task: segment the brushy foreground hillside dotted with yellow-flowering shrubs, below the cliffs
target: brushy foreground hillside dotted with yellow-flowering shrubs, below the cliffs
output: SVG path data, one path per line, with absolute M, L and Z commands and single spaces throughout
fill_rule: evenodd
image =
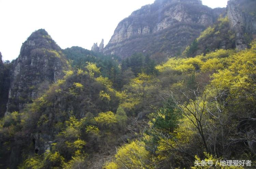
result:
M 189 168 L 197 158 L 255 162 L 255 43 L 173 57 L 154 71 L 153 61 L 133 57 L 118 66 L 126 78 L 117 88 L 111 73 L 87 62 L 2 118 L 2 167 L 86 168 L 96 153 L 108 157 L 99 164 L 106 169 Z

